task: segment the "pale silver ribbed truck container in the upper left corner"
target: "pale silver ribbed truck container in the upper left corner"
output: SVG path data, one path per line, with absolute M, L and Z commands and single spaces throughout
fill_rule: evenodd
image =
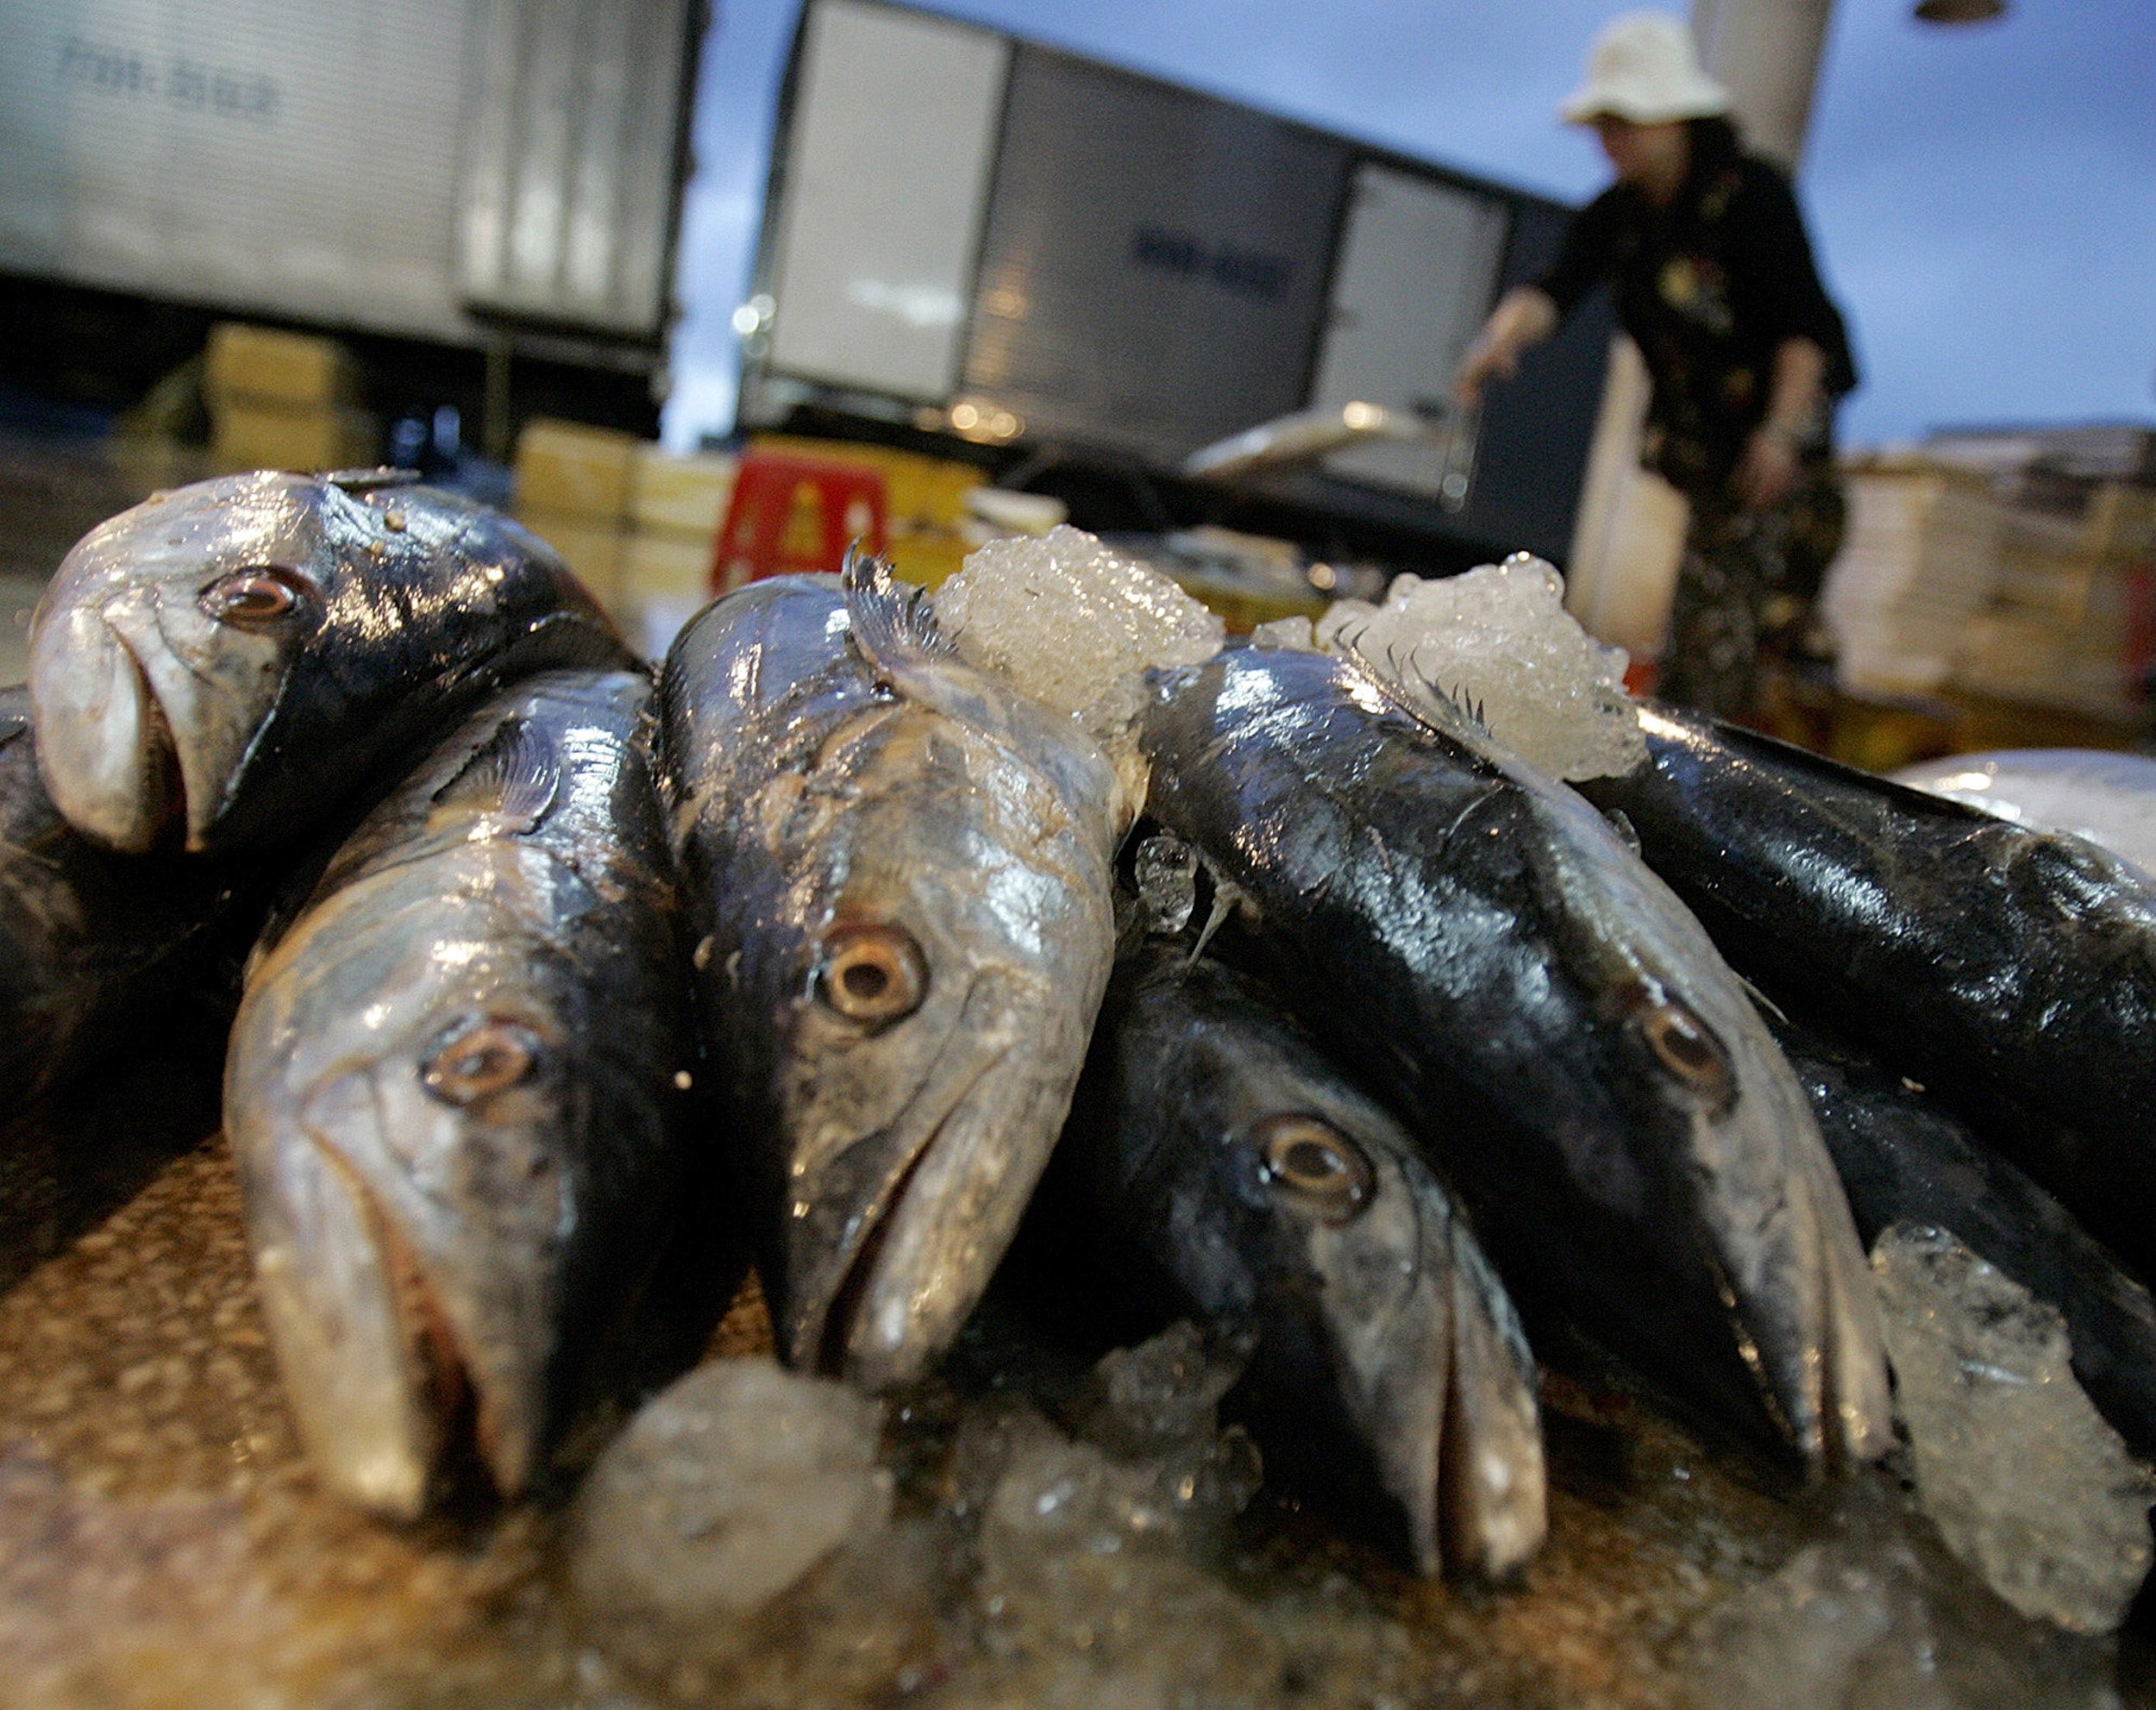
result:
M 0 267 L 651 367 L 701 24 L 699 0 L 11 4 Z

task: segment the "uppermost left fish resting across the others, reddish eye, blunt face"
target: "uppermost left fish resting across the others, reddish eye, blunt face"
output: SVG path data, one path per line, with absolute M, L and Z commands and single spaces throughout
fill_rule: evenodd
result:
M 513 677 L 630 662 L 509 518 L 395 470 L 261 470 L 155 494 L 69 550 L 30 623 L 30 703 L 75 830 L 224 852 L 304 841 Z

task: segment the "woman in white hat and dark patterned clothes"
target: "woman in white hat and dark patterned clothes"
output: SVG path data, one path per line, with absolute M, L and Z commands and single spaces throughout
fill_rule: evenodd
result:
M 1574 216 L 1557 261 L 1505 293 L 1455 392 L 1479 403 L 1611 287 L 1651 380 L 1641 461 L 1692 509 L 1656 690 L 1742 718 L 1768 656 L 1818 647 L 1811 602 L 1843 520 L 1833 403 L 1856 386 L 1848 330 L 1789 181 L 1740 147 L 1684 22 L 1608 24 L 1559 114 L 1593 127 L 1617 181 Z

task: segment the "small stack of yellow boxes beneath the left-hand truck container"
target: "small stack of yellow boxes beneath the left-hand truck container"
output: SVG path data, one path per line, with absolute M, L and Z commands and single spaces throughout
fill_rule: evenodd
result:
M 382 461 L 382 423 L 334 339 L 220 321 L 203 356 L 216 470 L 334 470 Z

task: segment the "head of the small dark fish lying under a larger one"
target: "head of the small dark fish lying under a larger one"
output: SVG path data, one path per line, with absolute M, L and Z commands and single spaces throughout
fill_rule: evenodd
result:
M 1546 1531 L 1518 1320 L 1399 1126 L 1309 1091 L 1214 1147 L 1240 1238 L 1266 1255 L 1253 1311 L 1261 1384 L 1281 1391 L 1268 1406 L 1315 1406 L 1328 1432 L 1298 1432 L 1302 1471 L 1376 1505 L 1421 1572 L 1511 1572 Z

